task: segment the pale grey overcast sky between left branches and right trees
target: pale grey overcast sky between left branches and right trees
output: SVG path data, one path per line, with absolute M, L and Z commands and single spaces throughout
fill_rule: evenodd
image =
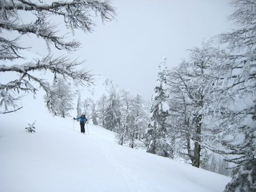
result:
M 84 67 L 112 79 L 119 87 L 151 99 L 159 61 L 178 65 L 190 49 L 233 28 L 228 0 L 115 0 L 116 19 L 94 28 L 91 34 L 75 31 L 82 49 L 71 55 L 85 59 Z M 63 19 L 60 20 L 63 22 Z M 27 37 L 29 38 L 29 37 Z M 33 40 L 34 41 L 34 40 Z M 47 49 L 39 46 L 46 54 Z M 45 53 L 43 53 L 43 50 Z M 54 50 L 54 49 L 53 49 Z M 55 50 L 56 51 L 56 50 Z

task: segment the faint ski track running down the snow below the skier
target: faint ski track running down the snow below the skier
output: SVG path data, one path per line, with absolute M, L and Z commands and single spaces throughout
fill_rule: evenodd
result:
M 98 140 L 98 139 L 97 139 Z M 114 167 L 114 169 L 122 175 L 122 178 L 124 179 L 124 182 L 126 183 L 127 189 L 129 189 L 130 192 L 132 191 L 139 191 L 139 192 L 147 192 L 150 191 L 147 187 L 146 183 L 143 182 L 141 179 L 138 178 L 137 175 L 126 169 L 124 166 L 122 166 L 120 163 L 118 163 L 118 160 L 114 157 L 114 155 L 111 153 L 110 149 L 103 145 L 102 141 L 98 140 L 101 149 L 103 151 L 103 154 L 107 158 L 108 162 Z

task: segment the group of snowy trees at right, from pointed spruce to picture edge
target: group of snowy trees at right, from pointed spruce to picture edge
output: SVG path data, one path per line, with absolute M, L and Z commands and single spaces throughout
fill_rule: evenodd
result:
M 232 1 L 238 29 L 190 49 L 188 59 L 158 70 L 148 126 L 149 153 L 204 167 L 225 156 L 234 177 L 225 191 L 256 189 L 256 1 Z M 212 160 L 212 158 L 211 158 Z

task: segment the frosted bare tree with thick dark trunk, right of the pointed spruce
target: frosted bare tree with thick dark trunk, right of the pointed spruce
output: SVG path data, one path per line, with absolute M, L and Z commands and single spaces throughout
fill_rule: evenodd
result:
M 182 61 L 169 74 L 169 135 L 172 148 L 174 152 L 179 151 L 178 155 L 182 158 L 189 158 L 196 167 L 206 166 L 209 159 L 207 150 L 214 143 L 216 122 L 221 119 L 220 114 L 213 115 L 217 109 L 209 106 L 215 99 L 211 87 L 221 70 L 214 67 L 221 63 L 219 55 L 222 51 L 204 42 L 201 48 L 191 49 L 188 60 Z

